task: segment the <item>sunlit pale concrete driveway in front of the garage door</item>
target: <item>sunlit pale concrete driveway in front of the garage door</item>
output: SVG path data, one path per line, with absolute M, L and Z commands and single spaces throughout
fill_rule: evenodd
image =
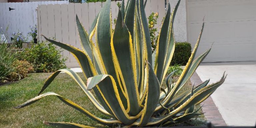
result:
M 226 81 L 212 94 L 227 125 L 255 126 L 256 123 L 256 61 L 202 63 L 196 70 L 202 81 Z

